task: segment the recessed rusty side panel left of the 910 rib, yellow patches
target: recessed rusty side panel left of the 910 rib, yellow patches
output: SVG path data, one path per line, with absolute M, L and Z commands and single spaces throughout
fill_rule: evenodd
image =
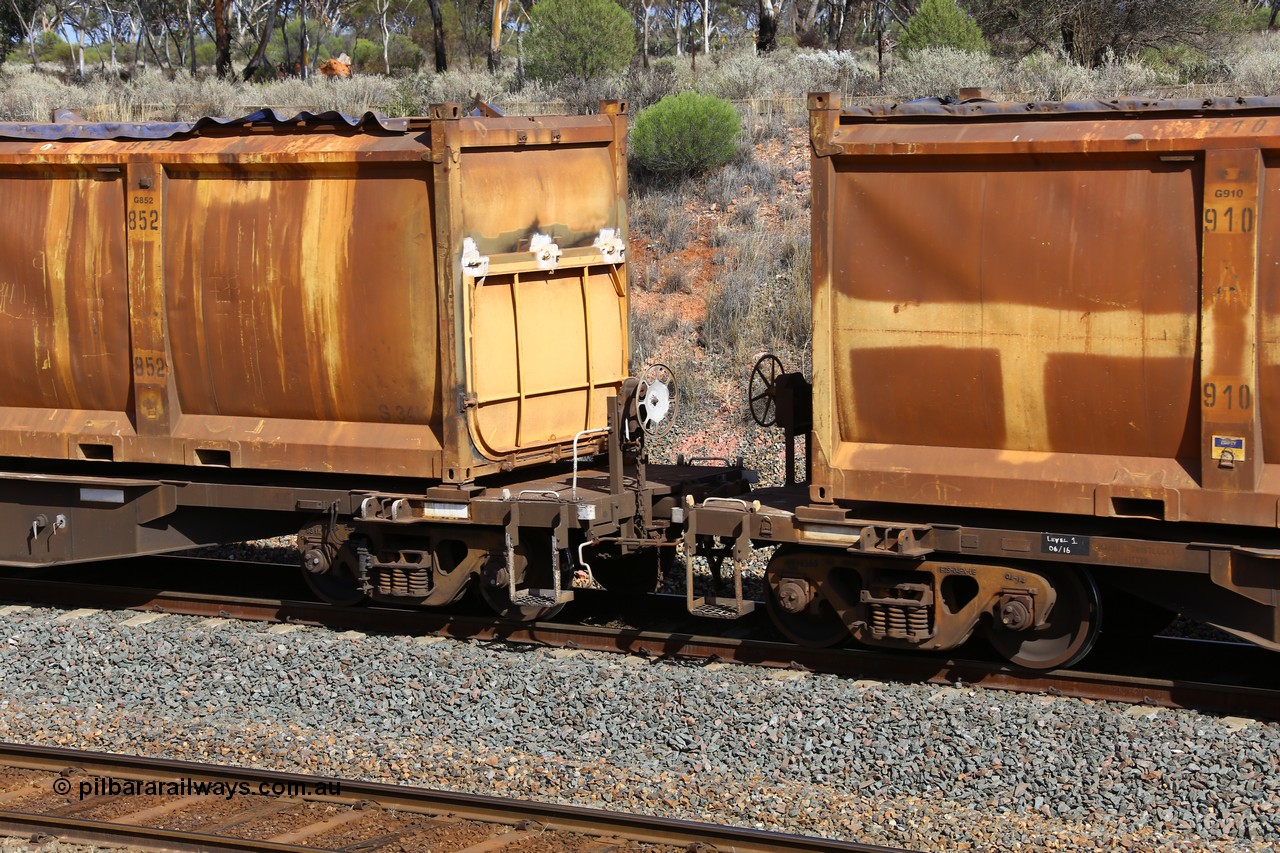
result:
M 841 441 L 1194 459 L 1198 182 L 1152 161 L 837 172 Z

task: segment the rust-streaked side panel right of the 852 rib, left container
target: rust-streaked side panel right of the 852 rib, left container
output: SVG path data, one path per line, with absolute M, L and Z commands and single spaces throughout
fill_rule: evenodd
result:
M 429 186 L 351 167 L 173 174 L 165 278 L 182 411 L 438 423 Z

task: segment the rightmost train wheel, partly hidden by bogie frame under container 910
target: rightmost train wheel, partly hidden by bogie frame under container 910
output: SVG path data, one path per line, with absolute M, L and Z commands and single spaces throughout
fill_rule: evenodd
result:
M 1057 590 L 1057 602 L 1044 628 L 1034 631 L 1009 630 L 998 624 L 987 629 L 996 652 L 1014 666 L 1028 670 L 1056 670 L 1080 661 L 1098 639 L 1102 603 L 1093 578 L 1076 571 L 1037 573 L 1048 578 Z

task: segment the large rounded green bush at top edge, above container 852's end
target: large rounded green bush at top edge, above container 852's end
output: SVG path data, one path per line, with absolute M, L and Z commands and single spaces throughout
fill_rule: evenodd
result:
M 586 82 L 622 70 L 636 51 L 631 15 L 613 0 L 541 0 L 529 14 L 529 76 Z

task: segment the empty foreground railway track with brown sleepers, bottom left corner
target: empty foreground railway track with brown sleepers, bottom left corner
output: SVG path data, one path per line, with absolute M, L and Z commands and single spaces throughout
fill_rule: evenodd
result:
M 0 835 L 141 850 L 893 848 L 643 815 L 0 743 Z

